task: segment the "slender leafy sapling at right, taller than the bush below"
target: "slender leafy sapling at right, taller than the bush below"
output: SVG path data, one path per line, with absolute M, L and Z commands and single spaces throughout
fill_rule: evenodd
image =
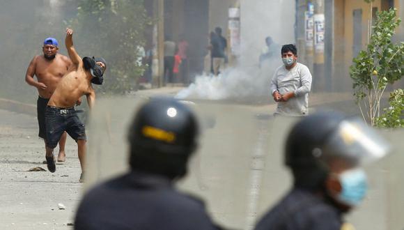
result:
M 367 49 L 359 52 L 350 66 L 357 105 L 364 120 L 371 125 L 380 116 L 380 100 L 387 85 L 404 74 L 404 43 L 391 43 L 401 19 L 396 17 L 396 9 L 376 15 Z

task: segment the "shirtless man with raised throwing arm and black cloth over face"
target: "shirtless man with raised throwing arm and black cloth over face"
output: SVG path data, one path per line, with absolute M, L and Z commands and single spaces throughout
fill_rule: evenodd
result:
M 63 132 L 68 132 L 68 135 L 77 142 L 81 164 L 80 182 L 82 182 L 86 155 L 86 130 L 77 117 L 74 106 L 82 95 L 86 95 L 88 107 L 93 108 L 95 91 L 91 83 L 102 84 L 102 75 L 107 66 L 102 58 L 94 59 L 86 56 L 81 59 L 73 47 L 72 35 L 72 29 L 66 29 L 65 45 L 72 60 L 72 66 L 56 86 L 45 112 L 47 137 L 45 158 L 49 171 L 52 173 L 56 171 L 53 150 Z

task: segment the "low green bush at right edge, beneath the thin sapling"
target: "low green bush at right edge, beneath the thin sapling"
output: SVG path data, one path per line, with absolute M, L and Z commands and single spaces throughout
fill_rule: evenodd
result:
M 397 89 L 390 93 L 390 106 L 377 118 L 376 125 L 385 128 L 404 128 L 404 91 Z

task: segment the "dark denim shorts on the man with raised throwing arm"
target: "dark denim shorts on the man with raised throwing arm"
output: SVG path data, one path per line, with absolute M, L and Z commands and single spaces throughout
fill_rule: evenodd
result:
M 86 128 L 73 107 L 63 109 L 47 106 L 45 123 L 46 146 L 48 148 L 55 148 L 65 131 L 75 141 L 86 140 Z

